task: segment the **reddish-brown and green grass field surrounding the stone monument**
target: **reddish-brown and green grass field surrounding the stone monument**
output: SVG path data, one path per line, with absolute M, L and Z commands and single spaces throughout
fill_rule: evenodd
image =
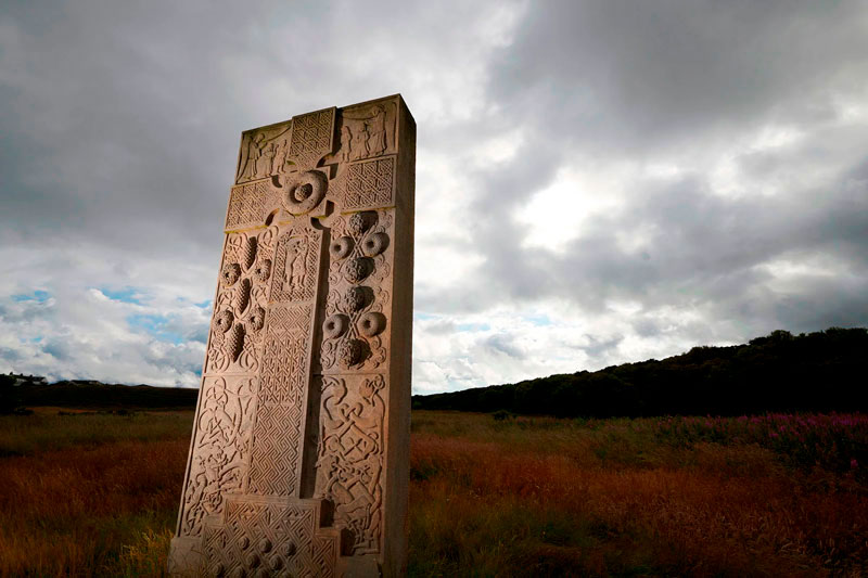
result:
M 192 412 L 58 413 L 0 418 L 0 574 L 162 575 Z M 868 576 L 867 448 L 863 415 L 414 412 L 409 574 Z

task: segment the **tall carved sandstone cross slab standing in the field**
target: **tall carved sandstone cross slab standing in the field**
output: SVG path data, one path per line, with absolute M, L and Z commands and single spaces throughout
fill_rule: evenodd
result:
M 173 576 L 397 576 L 416 124 L 399 95 L 248 130 Z

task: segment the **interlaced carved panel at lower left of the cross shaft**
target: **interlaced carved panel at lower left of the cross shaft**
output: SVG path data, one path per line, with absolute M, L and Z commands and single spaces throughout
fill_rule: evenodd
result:
M 195 423 L 181 536 L 200 536 L 203 518 L 218 514 L 227 492 L 241 489 L 250 450 L 253 378 L 206 378 Z

